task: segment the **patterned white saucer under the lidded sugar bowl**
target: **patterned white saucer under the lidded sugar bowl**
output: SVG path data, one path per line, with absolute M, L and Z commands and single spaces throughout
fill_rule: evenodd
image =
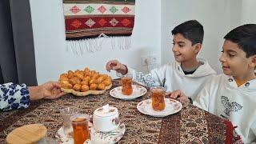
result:
M 109 143 L 116 143 L 118 142 L 126 131 L 126 126 L 124 123 L 121 122 L 121 124 L 118 126 L 118 129 L 111 130 L 110 132 L 101 132 L 98 130 L 94 130 L 93 124 L 89 122 L 89 130 L 90 130 L 90 138 L 91 140 L 87 140 L 84 142 L 84 144 L 109 144 Z M 73 138 L 67 138 L 64 134 L 63 127 L 61 127 L 57 134 L 55 135 L 55 138 L 57 138 L 58 143 L 62 144 L 74 144 Z

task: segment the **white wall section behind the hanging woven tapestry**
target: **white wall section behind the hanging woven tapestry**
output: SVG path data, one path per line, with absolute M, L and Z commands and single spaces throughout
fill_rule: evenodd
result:
M 101 51 L 83 55 L 66 51 L 62 0 L 30 0 L 30 9 L 38 84 L 56 81 L 66 70 L 85 66 L 106 73 L 105 64 L 113 58 L 138 70 L 146 70 L 141 66 L 141 55 L 158 54 L 161 58 L 160 0 L 136 1 L 133 46 L 129 50 L 111 50 L 110 42 L 104 42 Z

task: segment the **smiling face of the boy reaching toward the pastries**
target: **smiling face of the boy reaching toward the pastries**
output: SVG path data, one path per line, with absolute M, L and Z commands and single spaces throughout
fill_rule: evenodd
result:
M 201 49 L 201 44 L 192 46 L 192 42 L 184 38 L 182 34 L 174 34 L 173 44 L 172 51 L 177 62 L 186 62 L 196 58 Z

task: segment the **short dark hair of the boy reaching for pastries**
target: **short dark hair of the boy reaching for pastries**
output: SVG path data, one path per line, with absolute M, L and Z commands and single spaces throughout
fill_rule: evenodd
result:
M 182 24 L 174 27 L 171 34 L 182 34 L 184 38 L 192 42 L 192 46 L 196 43 L 201 43 L 203 40 L 203 26 L 196 20 L 183 22 Z

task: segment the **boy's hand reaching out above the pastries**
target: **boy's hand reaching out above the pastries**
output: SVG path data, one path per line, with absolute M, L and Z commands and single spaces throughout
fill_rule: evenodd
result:
M 118 73 L 126 74 L 127 68 L 122 63 L 118 62 L 118 60 L 111 60 L 106 63 L 106 70 L 110 72 L 110 70 L 115 70 Z

